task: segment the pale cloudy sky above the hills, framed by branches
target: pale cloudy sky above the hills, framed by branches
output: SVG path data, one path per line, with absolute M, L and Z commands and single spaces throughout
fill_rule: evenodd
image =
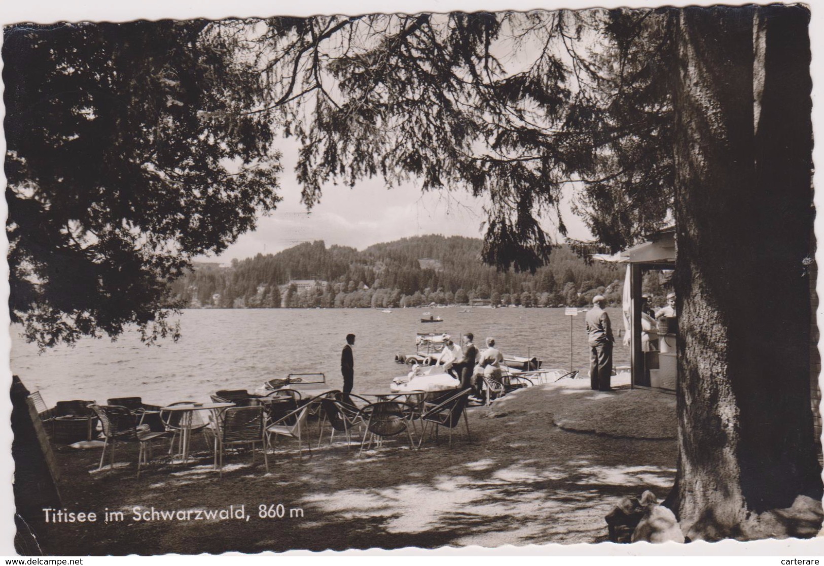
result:
M 378 177 L 359 182 L 351 189 L 344 185 L 325 186 L 320 204 L 307 213 L 294 174 L 297 144 L 293 139 L 283 139 L 277 146 L 283 152 L 279 190 L 283 201 L 272 214 L 260 217 L 257 229 L 241 235 L 217 261 L 228 263 L 257 253 L 276 253 L 314 240 L 323 240 L 327 247 L 338 244 L 363 249 L 373 243 L 428 233 L 483 237 L 484 202 L 468 191 L 422 193 L 415 183 L 386 189 Z M 589 238 L 588 230 L 569 207 L 562 210 L 570 236 Z M 554 233 L 551 224 L 546 224 L 546 229 Z

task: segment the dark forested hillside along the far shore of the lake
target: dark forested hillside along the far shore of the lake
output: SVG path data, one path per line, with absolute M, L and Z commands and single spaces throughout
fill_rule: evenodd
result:
M 587 265 L 566 247 L 534 275 L 496 271 L 480 261 L 480 239 L 440 235 L 378 243 L 363 251 L 316 241 L 232 266 L 195 264 L 171 285 L 193 307 L 402 307 L 465 304 L 583 306 L 594 295 L 620 303 L 623 268 Z M 435 261 L 419 261 L 419 260 Z M 422 266 L 423 265 L 423 266 Z M 290 281 L 302 281 L 290 284 Z M 307 287 L 306 281 L 316 281 Z

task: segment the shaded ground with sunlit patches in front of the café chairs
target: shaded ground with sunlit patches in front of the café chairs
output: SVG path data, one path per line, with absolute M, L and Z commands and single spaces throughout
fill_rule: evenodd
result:
M 63 507 L 96 512 L 94 523 L 35 523 L 45 554 L 219 554 L 289 549 L 396 549 L 606 540 L 603 517 L 616 501 L 651 489 L 666 496 L 676 466 L 675 397 L 621 385 L 614 394 L 564 380 L 469 410 L 471 441 L 456 429 L 450 449 L 424 442 L 410 450 L 386 441 L 358 458 L 343 441 L 311 457 L 279 441 L 254 465 L 227 455 L 223 477 L 201 450 L 189 465 L 154 465 L 136 476 L 137 448 L 117 452 L 115 469 L 96 470 L 100 450 L 55 447 Z M 317 424 L 310 438 L 317 442 Z M 166 444 L 156 447 L 162 453 Z M 259 506 L 283 505 L 283 518 Z M 249 520 L 134 521 L 146 511 L 245 506 Z M 124 521 L 105 523 L 105 509 Z M 290 510 L 300 509 L 301 512 Z

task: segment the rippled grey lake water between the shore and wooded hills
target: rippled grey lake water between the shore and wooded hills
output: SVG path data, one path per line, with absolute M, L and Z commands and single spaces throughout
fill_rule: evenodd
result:
M 504 356 L 537 356 L 544 368 L 569 367 L 572 320 L 574 368 L 588 371 L 589 348 L 583 313 L 564 309 L 193 309 L 180 317 L 183 337 L 147 347 L 138 333 L 116 342 L 82 339 L 75 347 L 38 354 L 20 328 L 12 327 L 12 372 L 30 391 L 40 390 L 49 406 L 67 399 L 140 396 L 147 403 L 208 401 L 217 389 L 255 389 L 265 380 L 290 373 L 322 372 L 330 389 L 340 389 L 340 351 L 347 333 L 354 347 L 354 392 L 389 389 L 393 377 L 408 370 L 398 353 L 415 350 L 416 332 L 475 333 L 482 348 L 495 337 Z M 443 323 L 420 323 L 424 312 Z M 620 309 L 607 309 L 613 327 L 623 328 Z M 614 363 L 629 365 L 630 348 L 616 338 Z

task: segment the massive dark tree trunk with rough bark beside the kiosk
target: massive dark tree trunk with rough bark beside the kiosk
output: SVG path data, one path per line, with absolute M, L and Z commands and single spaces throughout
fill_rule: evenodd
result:
M 692 7 L 679 17 L 673 507 L 691 540 L 812 536 L 822 481 L 803 264 L 813 254 L 809 14 Z

